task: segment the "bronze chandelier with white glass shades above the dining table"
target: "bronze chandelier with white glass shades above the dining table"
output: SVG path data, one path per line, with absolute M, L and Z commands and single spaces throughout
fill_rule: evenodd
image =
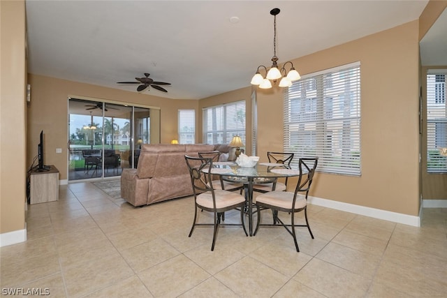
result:
M 258 70 L 256 70 L 255 75 L 251 79 L 251 84 L 258 85 L 261 89 L 270 89 L 272 88 L 272 80 L 274 83 L 281 78 L 279 81 L 279 87 L 290 87 L 293 81 L 300 80 L 301 76 L 297 70 L 293 67 L 293 63 L 291 61 L 287 61 L 281 68 L 278 68 L 278 57 L 277 57 L 277 15 L 281 10 L 279 8 L 273 8 L 270 10 L 270 15 L 273 15 L 273 57 L 272 57 L 272 67 L 267 70 L 267 68 L 263 65 L 258 66 Z M 291 64 L 291 68 L 286 70 L 286 64 Z M 259 69 L 264 68 L 265 73 L 267 74 L 265 77 L 259 73 Z

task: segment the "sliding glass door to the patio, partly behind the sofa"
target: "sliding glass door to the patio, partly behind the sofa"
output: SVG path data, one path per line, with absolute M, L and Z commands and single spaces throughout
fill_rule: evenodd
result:
M 159 143 L 159 110 L 69 98 L 68 111 L 68 181 L 117 177 L 138 165 L 142 144 Z

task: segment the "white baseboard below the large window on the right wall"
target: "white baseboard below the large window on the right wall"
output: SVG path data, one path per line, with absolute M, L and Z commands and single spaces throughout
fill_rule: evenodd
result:
M 360 214 L 363 216 L 369 216 L 373 218 L 383 219 L 384 221 L 393 221 L 393 223 L 403 223 L 404 225 L 413 225 L 420 227 L 420 217 L 411 216 L 408 214 L 400 214 L 392 211 L 386 211 L 381 209 L 375 209 L 371 207 L 364 207 L 355 204 L 349 204 L 344 202 L 337 202 L 322 198 L 309 197 L 309 204 L 314 204 L 322 207 L 328 207 L 331 209 L 337 209 L 340 211 L 351 212 L 353 214 Z

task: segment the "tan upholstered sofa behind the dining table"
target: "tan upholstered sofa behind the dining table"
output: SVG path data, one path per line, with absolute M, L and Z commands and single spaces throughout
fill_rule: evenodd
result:
M 235 158 L 227 145 L 212 144 L 143 144 L 136 169 L 121 174 L 121 196 L 133 206 L 142 206 L 193 194 L 185 155 L 221 151 Z M 228 154 L 228 155 L 227 155 Z

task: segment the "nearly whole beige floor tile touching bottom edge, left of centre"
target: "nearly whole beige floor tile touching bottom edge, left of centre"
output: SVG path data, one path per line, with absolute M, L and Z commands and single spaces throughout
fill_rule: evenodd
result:
M 176 297 L 210 277 L 184 255 L 162 262 L 138 273 L 142 283 L 155 297 Z

